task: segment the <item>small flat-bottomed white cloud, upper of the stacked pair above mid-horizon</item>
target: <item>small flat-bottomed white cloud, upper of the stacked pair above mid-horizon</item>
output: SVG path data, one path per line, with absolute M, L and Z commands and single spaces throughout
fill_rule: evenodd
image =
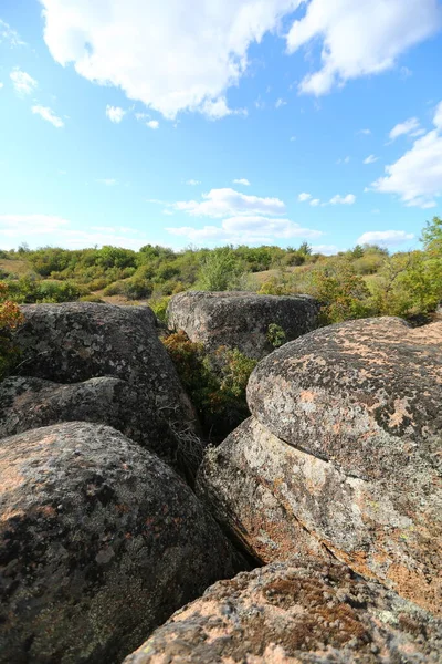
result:
M 211 189 L 201 201 L 181 200 L 171 204 L 179 211 L 197 217 L 228 217 L 240 215 L 283 215 L 285 205 L 278 198 L 246 196 L 234 189 Z

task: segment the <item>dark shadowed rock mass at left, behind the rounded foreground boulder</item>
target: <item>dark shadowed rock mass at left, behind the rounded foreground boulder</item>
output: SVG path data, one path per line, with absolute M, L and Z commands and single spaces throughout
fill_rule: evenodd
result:
M 27 380 L 0 386 L 0 433 L 72 419 L 101 422 L 176 468 L 188 463 L 193 473 L 201 455 L 194 435 L 192 444 L 196 414 L 149 308 L 71 302 L 24 305 L 22 312 L 25 323 L 15 342 L 22 352 L 18 373 Z M 180 457 L 181 438 L 188 461 Z

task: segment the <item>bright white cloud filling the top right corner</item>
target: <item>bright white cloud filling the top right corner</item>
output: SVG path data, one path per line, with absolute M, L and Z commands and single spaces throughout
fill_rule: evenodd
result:
M 323 42 L 322 69 L 299 90 L 322 95 L 351 79 L 394 66 L 399 55 L 442 24 L 438 0 L 311 0 L 288 37 L 291 53 L 314 39 Z

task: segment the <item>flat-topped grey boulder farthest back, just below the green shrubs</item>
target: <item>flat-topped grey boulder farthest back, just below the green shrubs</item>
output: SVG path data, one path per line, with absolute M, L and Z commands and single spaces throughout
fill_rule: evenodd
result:
M 260 360 L 274 350 L 267 339 L 271 323 L 292 341 L 317 328 L 318 312 L 318 302 L 308 295 L 188 291 L 170 300 L 168 322 L 209 351 L 225 345 Z

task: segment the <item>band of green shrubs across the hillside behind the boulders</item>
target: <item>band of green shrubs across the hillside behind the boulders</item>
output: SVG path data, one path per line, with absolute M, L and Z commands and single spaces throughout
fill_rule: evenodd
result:
M 0 250 L 0 280 L 15 302 L 72 300 L 149 302 L 165 317 L 167 298 L 188 289 L 309 293 L 324 303 L 324 323 L 367 315 L 431 314 L 442 299 L 442 221 L 422 232 L 422 248 L 389 252 L 357 246 L 326 257 L 301 247 L 189 248 L 146 245 L 67 250 Z

